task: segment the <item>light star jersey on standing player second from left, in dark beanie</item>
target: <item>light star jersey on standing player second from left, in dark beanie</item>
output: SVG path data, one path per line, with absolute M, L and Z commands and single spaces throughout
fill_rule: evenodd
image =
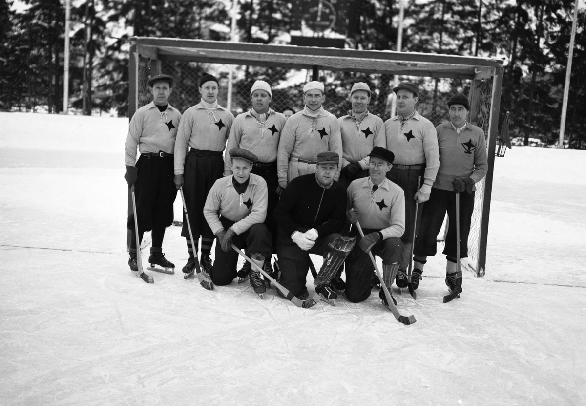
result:
M 183 174 L 188 146 L 222 152 L 233 122 L 233 114 L 222 106 L 208 111 L 202 103 L 197 103 L 185 110 L 175 141 L 175 175 Z

